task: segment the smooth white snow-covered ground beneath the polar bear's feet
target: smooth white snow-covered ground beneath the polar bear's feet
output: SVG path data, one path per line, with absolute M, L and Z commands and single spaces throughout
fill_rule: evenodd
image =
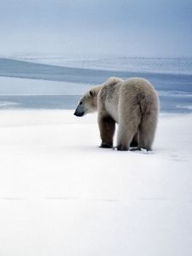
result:
M 0 255 L 189 256 L 192 115 L 154 152 L 102 149 L 96 115 L 0 112 Z

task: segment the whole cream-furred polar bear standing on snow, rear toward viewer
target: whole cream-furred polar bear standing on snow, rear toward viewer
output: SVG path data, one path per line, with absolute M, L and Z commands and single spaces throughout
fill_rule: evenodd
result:
M 80 99 L 74 115 L 98 111 L 101 148 L 113 148 L 115 123 L 118 150 L 152 150 L 159 113 L 159 97 L 142 78 L 110 78 Z

